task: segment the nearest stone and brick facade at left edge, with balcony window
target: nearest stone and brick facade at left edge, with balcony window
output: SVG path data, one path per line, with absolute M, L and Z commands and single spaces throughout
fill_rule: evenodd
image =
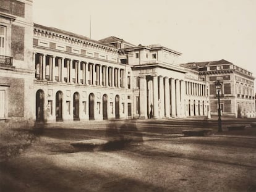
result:
M 35 118 L 32 1 L 0 4 L 0 126 L 29 127 Z

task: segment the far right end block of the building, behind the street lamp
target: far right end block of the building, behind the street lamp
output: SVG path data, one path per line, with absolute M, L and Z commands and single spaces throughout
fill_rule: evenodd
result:
M 217 80 L 223 81 L 220 91 L 221 112 L 233 117 L 255 117 L 254 77 L 224 59 L 220 61 L 190 62 L 181 66 L 198 72 L 199 78 L 210 87 L 211 114 L 218 114 Z

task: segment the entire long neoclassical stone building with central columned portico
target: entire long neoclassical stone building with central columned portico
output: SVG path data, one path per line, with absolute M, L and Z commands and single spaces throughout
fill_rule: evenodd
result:
M 181 53 L 160 44 L 92 40 L 33 23 L 31 0 L 0 2 L 1 126 L 207 115 L 216 110 L 214 77 L 230 71 L 236 83 L 224 83 L 232 99 L 221 99 L 223 113 L 255 115 L 246 112 L 255 105 L 254 78 L 236 65 L 179 65 Z

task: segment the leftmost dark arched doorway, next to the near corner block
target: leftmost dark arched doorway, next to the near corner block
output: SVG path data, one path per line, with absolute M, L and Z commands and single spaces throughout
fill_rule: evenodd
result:
M 45 114 L 44 114 L 44 103 L 45 103 L 45 94 L 43 90 L 38 90 L 36 92 L 36 121 L 44 122 Z

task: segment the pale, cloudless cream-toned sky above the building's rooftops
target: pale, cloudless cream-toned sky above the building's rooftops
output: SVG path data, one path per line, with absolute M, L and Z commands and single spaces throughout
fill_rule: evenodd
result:
M 158 43 L 180 63 L 225 59 L 256 77 L 255 10 L 256 0 L 33 0 L 33 21 L 89 37 L 91 17 L 93 40 Z

